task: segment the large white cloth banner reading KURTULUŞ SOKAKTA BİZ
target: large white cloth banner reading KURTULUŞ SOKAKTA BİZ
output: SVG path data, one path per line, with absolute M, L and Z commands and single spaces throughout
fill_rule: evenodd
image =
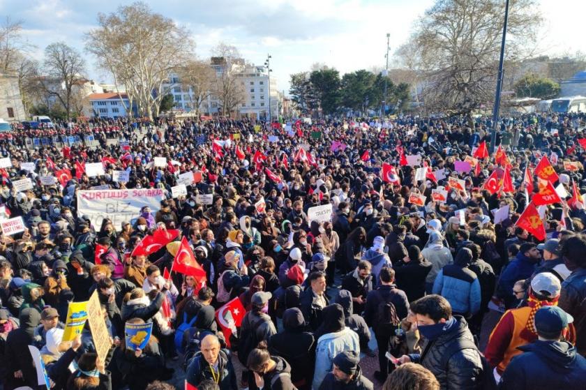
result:
M 131 190 L 80 190 L 77 192 L 77 212 L 89 216 L 93 226 L 100 226 L 104 218 L 110 218 L 117 230 L 124 221 L 140 215 L 140 209 L 150 207 L 154 212 L 160 209 L 165 198 L 161 188 Z

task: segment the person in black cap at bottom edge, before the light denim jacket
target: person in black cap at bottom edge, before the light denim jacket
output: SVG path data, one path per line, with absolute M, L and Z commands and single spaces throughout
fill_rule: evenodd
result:
M 324 377 L 320 390 L 373 390 L 373 382 L 362 375 L 360 357 L 354 351 L 343 351 L 333 358 L 333 370 Z

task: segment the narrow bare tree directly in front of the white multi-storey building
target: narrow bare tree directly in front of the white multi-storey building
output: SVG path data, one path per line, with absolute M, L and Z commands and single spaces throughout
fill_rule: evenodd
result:
M 244 85 L 239 72 L 244 67 L 244 61 L 236 47 L 219 43 L 212 50 L 211 66 L 216 70 L 216 77 L 212 82 L 211 94 L 220 104 L 223 116 L 236 111 L 244 103 Z

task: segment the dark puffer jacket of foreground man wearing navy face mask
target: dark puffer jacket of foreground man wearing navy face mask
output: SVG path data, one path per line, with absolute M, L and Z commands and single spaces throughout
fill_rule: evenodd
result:
M 474 343 L 472 333 L 463 317 L 454 316 L 456 324 L 437 339 L 423 345 L 421 355 L 410 355 L 412 361 L 420 363 L 435 375 L 442 390 L 476 390 L 477 377 L 482 372 L 482 361 L 477 350 L 465 349 L 454 353 L 446 367 L 442 367 L 442 359 L 449 347 L 458 339 Z

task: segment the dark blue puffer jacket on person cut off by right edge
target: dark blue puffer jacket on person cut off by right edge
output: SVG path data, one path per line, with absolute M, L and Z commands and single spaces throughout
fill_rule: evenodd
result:
M 558 306 L 569 313 L 576 327 L 576 349 L 586 356 L 586 268 L 574 270 L 564 283 Z

